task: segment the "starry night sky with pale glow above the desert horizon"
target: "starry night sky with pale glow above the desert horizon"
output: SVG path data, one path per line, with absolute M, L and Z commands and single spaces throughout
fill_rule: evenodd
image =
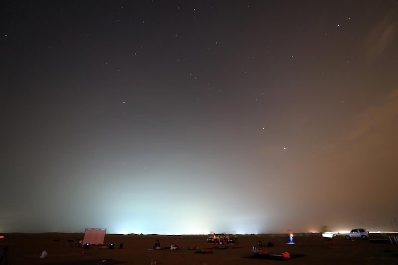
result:
M 398 1 L 1 1 L 0 231 L 398 229 Z

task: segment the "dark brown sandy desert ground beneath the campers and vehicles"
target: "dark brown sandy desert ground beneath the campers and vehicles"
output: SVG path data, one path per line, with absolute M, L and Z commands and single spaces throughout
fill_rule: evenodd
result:
M 9 265 L 397 265 L 398 245 L 373 244 L 370 240 L 345 240 L 337 236 L 328 241 L 320 234 L 296 234 L 294 245 L 288 245 L 288 234 L 238 235 L 237 244 L 226 249 L 215 249 L 206 242 L 207 235 L 164 236 L 164 235 L 106 235 L 104 245 L 114 244 L 114 249 L 91 246 L 87 254 L 68 240 L 82 239 L 83 234 L 4 234 L 0 246 L 8 246 Z M 386 235 L 372 235 L 372 239 L 386 238 Z M 148 250 L 159 239 L 162 249 L 177 245 L 181 250 Z M 253 259 L 252 246 L 261 240 L 264 244 L 274 243 L 275 247 L 263 247 L 269 253 L 289 252 L 292 259 L 287 261 Z M 120 243 L 123 248 L 119 249 Z M 46 250 L 48 256 L 39 256 Z M 208 254 L 198 254 L 208 250 Z M 6 264 L 3 258 L 0 265 Z

